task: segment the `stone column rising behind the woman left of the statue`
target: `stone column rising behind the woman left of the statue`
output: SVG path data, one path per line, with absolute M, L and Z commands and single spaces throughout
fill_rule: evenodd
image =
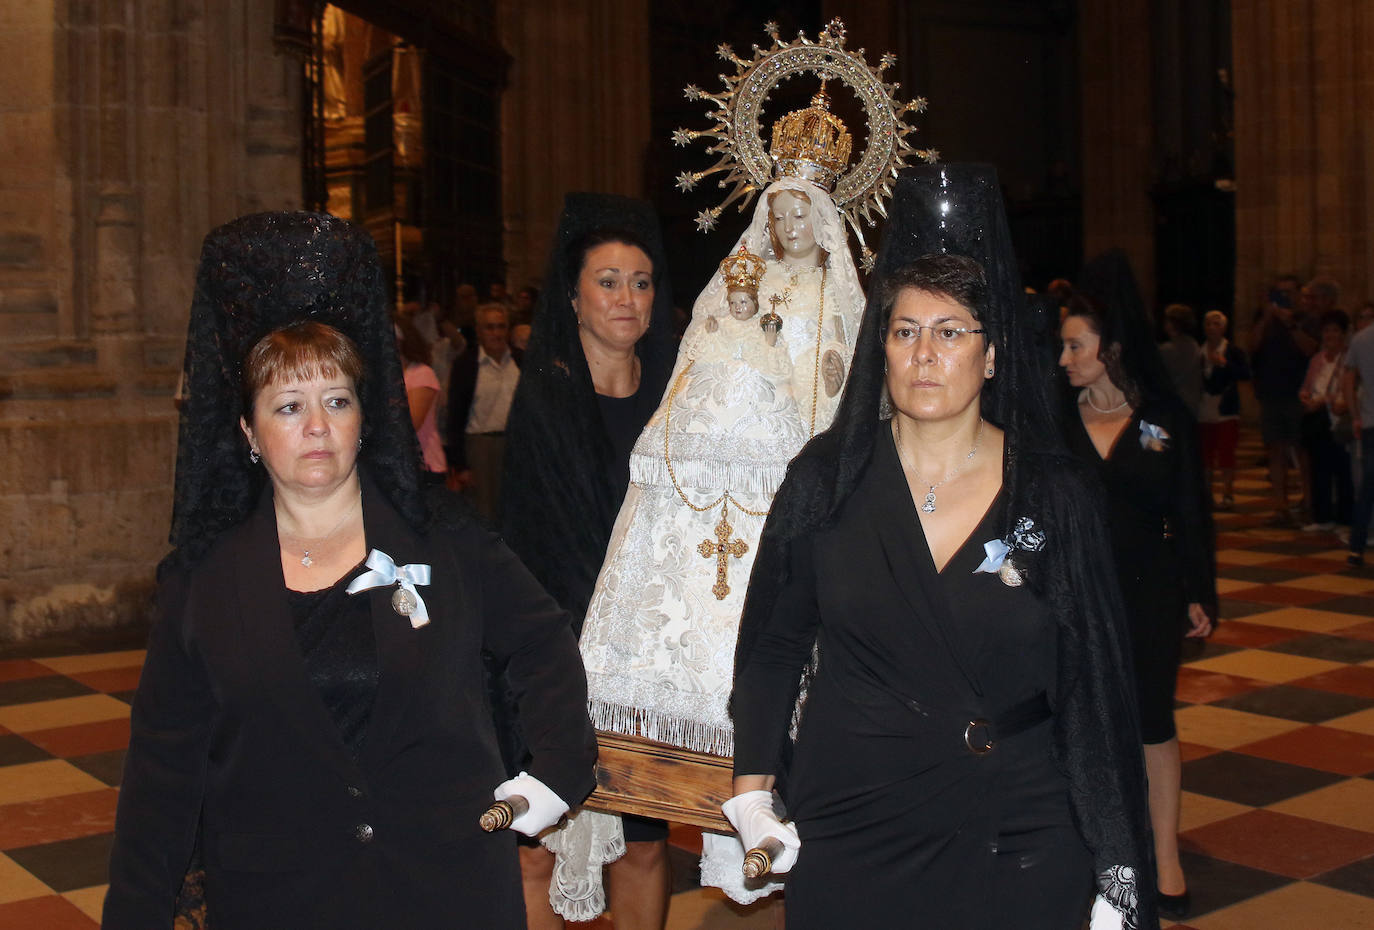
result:
M 502 100 L 507 279 L 543 277 L 563 194 L 643 196 L 650 132 L 646 0 L 511 0 Z M 556 88 L 556 92 L 555 92 Z

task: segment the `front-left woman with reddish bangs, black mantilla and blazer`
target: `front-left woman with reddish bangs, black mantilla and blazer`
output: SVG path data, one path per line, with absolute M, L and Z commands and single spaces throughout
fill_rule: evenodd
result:
M 327 214 L 206 236 L 110 930 L 172 927 L 198 834 L 216 930 L 515 930 L 514 839 L 478 827 L 493 789 L 536 834 L 592 787 L 566 614 L 422 486 L 383 282 Z M 522 695 L 532 775 L 506 780 L 484 653 Z

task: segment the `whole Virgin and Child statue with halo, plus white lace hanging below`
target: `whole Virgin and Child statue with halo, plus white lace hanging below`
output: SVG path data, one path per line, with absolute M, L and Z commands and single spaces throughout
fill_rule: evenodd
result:
M 809 107 L 774 124 L 767 152 L 771 180 L 754 185 L 764 190 L 749 227 L 692 305 L 668 392 L 635 444 L 629 493 L 581 633 L 598 729 L 713 756 L 734 750 L 727 701 L 764 519 L 787 463 L 834 418 L 853 357 L 864 294 L 845 223 L 857 229 L 859 212 L 870 209 L 868 199 L 881 202 L 885 181 L 912 151 L 901 141 L 911 131 L 900 120 L 905 107 L 894 107 L 890 85 L 844 49 L 838 21 L 819 44 L 800 37 L 783 45 L 776 29 L 769 34 L 772 49 L 756 52 L 753 62 L 734 59 L 741 73 L 727 78 L 725 92 L 687 91 L 734 111 L 727 132 L 741 163 L 749 162 L 752 146 L 761 154 L 757 128 L 749 136 L 747 121 L 739 118 L 753 111 L 757 124 L 757 100 L 747 95 L 772 87 L 750 82 L 760 63 L 812 71 L 820 87 Z M 863 100 L 871 96 L 886 125 L 901 128 L 889 133 L 878 159 L 882 170 L 867 185 L 849 170 L 851 135 L 831 113 L 826 92 L 830 77 L 849 81 L 855 60 L 870 77 L 867 84 L 856 81 L 861 87 L 856 93 Z M 684 135 L 720 133 L 679 131 L 675 137 Z M 872 151 L 870 144 L 860 159 L 866 170 Z M 679 184 L 691 187 L 709 173 L 683 176 Z M 837 188 L 844 191 L 841 203 L 851 207 L 848 216 L 837 203 Z M 705 212 L 698 225 L 709 229 L 719 213 L 720 207 Z M 599 912 L 599 864 L 624 850 L 618 826 L 616 816 L 584 810 L 545 838 L 559 853 L 551 897 L 565 916 L 591 919 L 592 911 Z M 745 887 L 745 850 L 734 835 L 705 839 L 703 883 L 743 903 L 779 887 L 767 882 Z M 562 900 L 559 886 L 566 892 Z

